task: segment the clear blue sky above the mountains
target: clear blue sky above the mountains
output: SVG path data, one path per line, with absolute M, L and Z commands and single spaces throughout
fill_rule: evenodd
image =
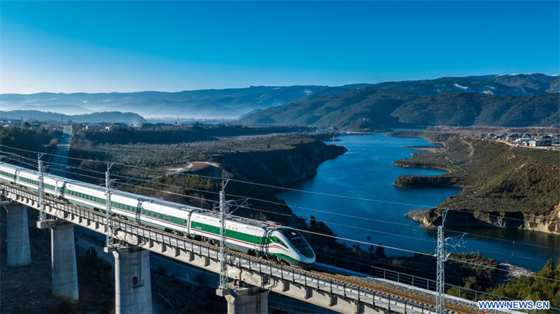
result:
M 0 92 L 560 72 L 560 1 L 1 1 Z

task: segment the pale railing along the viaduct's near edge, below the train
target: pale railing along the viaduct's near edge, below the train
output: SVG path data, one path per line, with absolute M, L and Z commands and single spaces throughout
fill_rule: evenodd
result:
M 0 192 L 2 192 L 2 194 L 6 192 L 13 193 L 16 195 L 17 199 L 21 201 L 25 199 L 28 204 L 29 202 L 36 203 L 38 201 L 36 192 L 7 183 L 0 183 Z M 57 215 L 62 214 L 64 219 L 70 217 L 71 215 L 76 215 L 77 217 L 90 220 L 90 222 L 97 222 L 103 225 L 106 224 L 104 213 L 76 206 L 74 204 L 69 204 L 64 201 L 47 198 L 45 199 L 45 207 L 52 208 L 55 212 L 60 210 L 61 213 L 57 213 Z M 48 214 L 50 213 L 50 215 L 52 215 L 52 210 L 50 210 Z M 128 234 L 139 236 L 139 238 L 144 240 L 157 241 L 158 243 L 169 245 L 169 247 L 194 252 L 195 254 L 209 257 L 211 259 L 217 260 L 219 257 L 218 248 L 213 245 L 169 234 L 159 229 L 144 227 L 136 224 L 135 222 L 113 220 L 113 228 L 125 231 Z M 293 267 L 273 264 L 272 262 L 265 262 L 262 261 L 262 259 L 247 257 L 246 255 L 237 255 L 236 253 L 230 252 L 228 253 L 228 264 L 238 266 L 239 268 L 258 271 L 259 273 L 264 273 L 281 280 L 289 280 L 292 283 L 304 285 L 304 287 L 311 287 L 316 290 L 322 290 L 324 292 L 329 292 L 330 294 L 337 294 L 341 297 L 353 299 L 358 302 L 372 304 L 372 306 L 375 306 L 376 304 L 379 305 L 380 303 L 383 304 L 385 308 L 388 307 L 389 311 L 391 311 L 391 306 L 400 307 L 401 309 L 404 306 L 404 308 L 407 308 L 408 311 L 411 311 L 414 307 L 414 311 L 421 311 L 422 313 L 424 313 L 424 311 L 435 311 L 433 306 L 427 304 L 409 301 L 407 299 L 392 296 L 391 294 L 376 292 L 365 287 L 345 283 L 341 280 L 318 276 L 308 271 L 297 270 Z

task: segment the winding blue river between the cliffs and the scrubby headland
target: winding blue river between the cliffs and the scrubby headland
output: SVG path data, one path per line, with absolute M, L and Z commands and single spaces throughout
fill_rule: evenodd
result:
M 435 144 L 430 144 L 423 138 L 402 138 L 385 134 L 340 136 L 339 139 L 341 141 L 335 142 L 336 145 L 343 145 L 348 152 L 336 159 L 323 162 L 318 168 L 317 176 L 305 180 L 294 188 L 378 201 L 344 199 L 293 191 L 282 192 L 279 197 L 291 206 L 296 215 L 303 217 L 314 215 L 340 237 L 366 243 L 382 243 L 416 252 L 433 252 L 437 238 L 435 231 L 424 229 L 421 224 L 405 217 L 405 214 L 409 210 L 422 208 L 414 205 L 437 206 L 447 197 L 456 195 L 461 190 L 452 187 L 414 189 L 393 187 L 395 180 L 402 175 L 443 173 L 431 169 L 402 168 L 393 166 L 393 162 L 409 157 L 415 151 L 407 148 L 409 146 Z M 355 217 L 348 217 L 348 215 Z M 496 258 L 498 262 L 507 262 L 533 271 L 542 269 L 549 258 L 560 258 L 558 249 L 560 236 L 552 234 L 517 229 L 446 229 L 445 236 L 456 236 L 457 233 L 452 231 L 466 231 L 479 235 L 465 236 L 465 243 L 458 248 L 458 252 L 484 253 L 486 257 Z M 349 242 L 349 244 L 356 243 Z M 386 248 L 386 253 L 393 256 L 412 255 L 409 252 L 389 248 Z

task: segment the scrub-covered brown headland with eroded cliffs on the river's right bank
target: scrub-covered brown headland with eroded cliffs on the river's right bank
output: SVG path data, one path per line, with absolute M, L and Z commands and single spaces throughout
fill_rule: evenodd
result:
M 455 136 L 444 150 L 414 153 L 395 166 L 454 169 L 442 176 L 401 176 L 396 187 L 462 187 L 430 210 L 407 216 L 440 224 L 440 210 L 451 208 L 445 224 L 498 227 L 560 234 L 560 152 L 512 148 L 502 143 Z M 510 219 L 511 218 L 511 219 Z

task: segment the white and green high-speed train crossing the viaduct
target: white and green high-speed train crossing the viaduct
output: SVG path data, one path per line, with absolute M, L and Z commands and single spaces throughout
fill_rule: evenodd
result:
M 0 180 L 30 190 L 38 190 L 38 171 L 12 164 L 0 164 Z M 77 180 L 45 174 L 45 194 L 70 203 L 105 212 L 106 189 Z M 219 213 L 193 206 L 144 197 L 128 192 L 111 193 L 111 211 L 127 220 L 145 224 L 181 236 L 218 243 Z M 279 227 L 258 220 L 228 215 L 225 223 L 228 248 L 292 266 L 307 267 L 315 262 L 309 243 L 295 229 Z

